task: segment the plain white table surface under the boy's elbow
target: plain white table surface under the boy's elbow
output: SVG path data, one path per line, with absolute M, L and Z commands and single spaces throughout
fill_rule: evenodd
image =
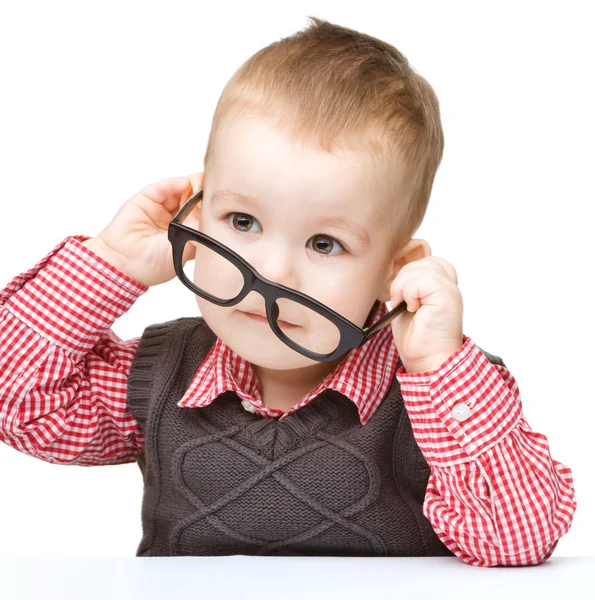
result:
M 0 559 L 2 600 L 246 598 L 595 600 L 595 557 L 472 567 L 455 557 Z

